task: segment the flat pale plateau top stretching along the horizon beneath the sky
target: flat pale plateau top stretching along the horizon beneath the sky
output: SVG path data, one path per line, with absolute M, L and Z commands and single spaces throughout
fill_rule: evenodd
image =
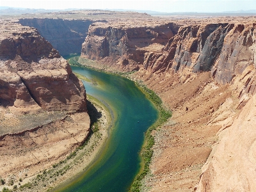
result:
M 173 22 L 180 26 L 211 23 L 256 23 L 256 16 L 220 15 L 166 15 L 151 16 L 138 12 L 113 12 L 108 10 L 76 10 L 71 12 L 33 13 L 23 15 L 0 15 L 0 30 L 3 35 L 8 31 L 20 31 L 24 26 L 16 26 L 19 19 L 63 19 L 92 20 L 95 27 L 112 26 L 115 28 L 155 27 Z M 9 23 L 9 24 L 8 24 Z M 26 30 L 26 29 L 24 29 Z M 9 32 L 10 33 L 10 32 Z M 2 35 L 2 34 L 1 34 Z

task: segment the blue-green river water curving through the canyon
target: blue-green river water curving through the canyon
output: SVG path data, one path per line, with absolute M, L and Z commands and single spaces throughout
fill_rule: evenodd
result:
M 111 107 L 114 123 L 97 160 L 58 191 L 128 191 L 140 170 L 143 134 L 157 119 L 157 110 L 134 82 L 90 68 L 72 70 L 96 83 L 83 81 L 86 93 Z

